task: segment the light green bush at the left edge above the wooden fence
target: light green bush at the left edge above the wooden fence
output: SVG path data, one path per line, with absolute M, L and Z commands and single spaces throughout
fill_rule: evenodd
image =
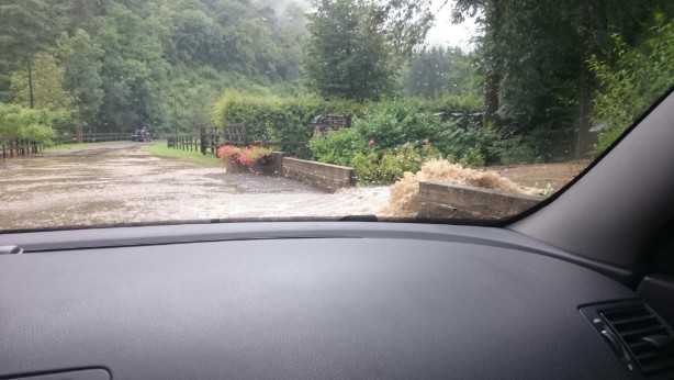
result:
M 49 143 L 54 137 L 52 130 L 54 119 L 56 115 L 48 110 L 32 110 L 0 103 L 0 139 Z

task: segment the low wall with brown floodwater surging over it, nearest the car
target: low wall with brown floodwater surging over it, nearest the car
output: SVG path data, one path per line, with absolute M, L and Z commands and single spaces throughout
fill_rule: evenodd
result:
M 542 198 L 459 185 L 419 182 L 423 217 L 497 220 L 526 211 Z

